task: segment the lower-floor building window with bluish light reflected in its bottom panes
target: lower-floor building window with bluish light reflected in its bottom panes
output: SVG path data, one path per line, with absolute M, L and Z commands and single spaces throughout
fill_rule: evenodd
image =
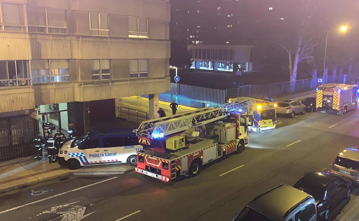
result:
M 69 61 L 31 60 L 31 74 L 33 83 L 70 81 Z

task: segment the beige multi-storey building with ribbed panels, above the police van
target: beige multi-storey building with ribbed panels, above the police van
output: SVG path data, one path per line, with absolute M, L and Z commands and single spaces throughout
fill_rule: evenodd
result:
M 168 0 L 0 0 L 0 19 L 0 161 L 28 154 L 36 106 L 39 121 L 83 132 L 114 117 L 120 97 L 149 94 L 157 115 Z

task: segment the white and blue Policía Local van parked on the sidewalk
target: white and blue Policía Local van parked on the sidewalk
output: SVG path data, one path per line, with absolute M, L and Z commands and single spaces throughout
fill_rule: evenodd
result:
M 137 151 L 142 150 L 135 130 L 112 129 L 89 132 L 67 141 L 60 149 L 59 164 L 69 169 L 80 166 L 129 163 L 137 165 Z

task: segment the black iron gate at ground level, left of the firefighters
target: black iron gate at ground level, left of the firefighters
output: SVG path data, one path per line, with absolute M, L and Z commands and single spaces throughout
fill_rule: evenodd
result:
M 38 133 L 38 120 L 28 115 L 0 118 L 0 162 L 34 155 L 31 143 Z

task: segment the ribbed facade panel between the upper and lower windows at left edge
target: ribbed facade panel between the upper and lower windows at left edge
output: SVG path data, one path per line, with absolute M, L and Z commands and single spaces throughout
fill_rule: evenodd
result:
M 21 34 L 0 33 L 0 60 L 29 60 L 31 58 L 29 39 Z M 16 37 L 13 37 L 16 36 Z

